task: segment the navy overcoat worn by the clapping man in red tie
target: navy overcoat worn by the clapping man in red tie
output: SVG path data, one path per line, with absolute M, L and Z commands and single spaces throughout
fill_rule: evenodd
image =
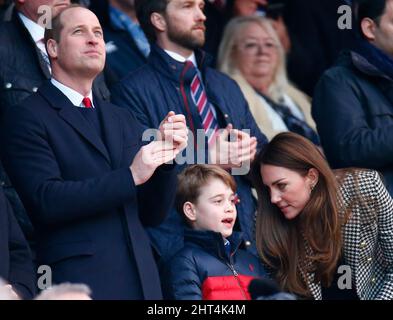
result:
M 95 299 L 160 299 L 144 225 L 165 218 L 175 172 L 161 167 L 136 187 L 129 166 L 142 146 L 140 125 L 125 109 L 97 97 L 94 104 L 103 139 L 45 83 L 5 116 L 4 166 L 32 215 L 38 262 L 51 266 L 55 283 L 86 283 Z

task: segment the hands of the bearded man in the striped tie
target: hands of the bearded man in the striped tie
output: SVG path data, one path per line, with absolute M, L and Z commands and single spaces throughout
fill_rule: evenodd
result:
M 228 137 L 231 140 L 228 141 Z M 257 152 L 257 139 L 249 134 L 233 129 L 229 124 L 221 131 L 215 142 L 209 147 L 212 164 L 224 169 L 239 168 L 243 163 L 251 163 Z

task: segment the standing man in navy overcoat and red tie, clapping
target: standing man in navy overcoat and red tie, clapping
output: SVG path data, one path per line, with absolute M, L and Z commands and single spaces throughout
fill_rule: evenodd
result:
M 105 63 L 97 17 L 76 6 L 46 29 L 53 78 L 3 121 L 2 156 L 31 212 L 38 264 L 53 283 L 85 283 L 93 299 L 160 299 L 160 281 L 144 226 L 172 206 L 172 160 L 187 143 L 182 115 L 160 141 L 142 146 L 127 111 L 92 94 Z M 159 191 L 158 191 L 159 190 Z

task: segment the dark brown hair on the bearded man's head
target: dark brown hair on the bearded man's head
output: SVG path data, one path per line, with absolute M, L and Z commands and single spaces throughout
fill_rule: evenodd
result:
M 135 0 L 135 11 L 139 24 L 150 43 L 157 40 L 156 30 L 151 23 L 154 12 L 164 13 L 170 0 Z

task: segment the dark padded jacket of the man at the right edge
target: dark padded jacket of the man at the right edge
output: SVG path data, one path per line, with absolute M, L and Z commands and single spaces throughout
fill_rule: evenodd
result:
M 334 168 L 383 173 L 393 194 L 393 80 L 362 55 L 344 52 L 320 79 L 312 115 Z

